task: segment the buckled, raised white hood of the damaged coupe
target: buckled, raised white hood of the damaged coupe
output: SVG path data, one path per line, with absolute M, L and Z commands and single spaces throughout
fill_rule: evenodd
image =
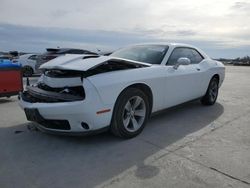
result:
M 131 61 L 131 60 L 116 58 L 112 56 L 66 54 L 63 56 L 59 56 L 41 65 L 40 69 L 87 71 L 100 64 L 103 64 L 106 61 L 117 61 L 117 62 L 125 61 L 131 64 L 140 64 L 140 65 L 150 66 L 150 64 L 148 63 Z

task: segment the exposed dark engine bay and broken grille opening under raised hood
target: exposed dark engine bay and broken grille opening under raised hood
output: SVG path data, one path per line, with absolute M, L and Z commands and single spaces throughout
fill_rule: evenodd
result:
M 110 60 L 87 71 L 45 69 L 38 83 L 27 86 L 22 99 L 31 103 L 71 102 L 85 99 L 84 78 L 111 71 L 147 67 L 124 60 Z M 67 78 L 67 79 L 65 79 Z

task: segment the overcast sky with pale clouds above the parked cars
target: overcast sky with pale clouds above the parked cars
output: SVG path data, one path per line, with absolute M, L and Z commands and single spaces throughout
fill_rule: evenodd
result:
M 250 0 L 0 0 L 0 50 L 185 42 L 250 55 Z

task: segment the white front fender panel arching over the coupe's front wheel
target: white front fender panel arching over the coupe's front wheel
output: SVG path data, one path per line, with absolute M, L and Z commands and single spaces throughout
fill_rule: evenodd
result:
M 106 105 L 114 106 L 118 96 L 124 89 L 134 84 L 147 85 L 153 95 L 152 111 L 161 109 L 164 105 L 164 77 L 154 75 L 154 72 L 149 71 L 146 76 L 143 68 L 126 71 L 116 71 L 103 73 L 91 76 L 88 80 L 95 86 L 102 102 Z M 159 71 L 158 71 L 158 74 Z

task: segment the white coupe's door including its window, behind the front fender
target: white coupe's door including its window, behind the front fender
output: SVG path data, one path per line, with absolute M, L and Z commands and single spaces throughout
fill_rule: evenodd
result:
M 181 57 L 189 58 L 191 64 L 173 66 Z M 203 74 L 199 63 L 204 58 L 192 48 L 177 47 L 170 55 L 166 66 L 166 107 L 174 106 L 198 97 L 203 93 Z

